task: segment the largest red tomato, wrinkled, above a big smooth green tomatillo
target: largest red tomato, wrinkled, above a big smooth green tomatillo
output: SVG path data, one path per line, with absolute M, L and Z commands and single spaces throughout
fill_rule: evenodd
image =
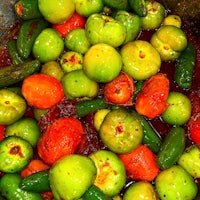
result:
M 82 123 L 72 117 L 57 119 L 38 141 L 38 155 L 52 165 L 64 155 L 75 152 L 85 130 Z

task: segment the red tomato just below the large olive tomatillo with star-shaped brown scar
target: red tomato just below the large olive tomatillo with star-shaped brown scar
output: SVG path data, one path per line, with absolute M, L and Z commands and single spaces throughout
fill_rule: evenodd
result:
M 145 145 L 139 145 L 132 152 L 120 154 L 127 175 L 136 181 L 153 181 L 159 173 L 155 155 Z

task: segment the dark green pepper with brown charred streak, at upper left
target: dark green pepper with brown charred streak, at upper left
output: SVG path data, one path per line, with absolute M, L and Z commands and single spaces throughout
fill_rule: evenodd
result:
M 35 39 L 43 29 L 48 27 L 48 24 L 43 18 L 22 23 L 17 37 L 17 50 L 22 58 L 27 59 L 30 56 Z

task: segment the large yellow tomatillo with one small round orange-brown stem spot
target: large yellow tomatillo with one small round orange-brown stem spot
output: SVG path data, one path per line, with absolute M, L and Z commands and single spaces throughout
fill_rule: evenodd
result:
M 147 41 L 135 40 L 121 48 L 122 71 L 134 80 L 145 80 L 156 74 L 161 67 L 161 59 L 156 49 Z

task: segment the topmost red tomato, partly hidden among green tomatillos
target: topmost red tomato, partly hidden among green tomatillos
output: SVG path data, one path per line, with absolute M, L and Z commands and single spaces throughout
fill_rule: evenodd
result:
M 66 35 L 74 28 L 84 28 L 86 19 L 84 16 L 74 13 L 65 23 L 53 24 L 52 28 L 58 31 L 58 33 L 65 38 Z

